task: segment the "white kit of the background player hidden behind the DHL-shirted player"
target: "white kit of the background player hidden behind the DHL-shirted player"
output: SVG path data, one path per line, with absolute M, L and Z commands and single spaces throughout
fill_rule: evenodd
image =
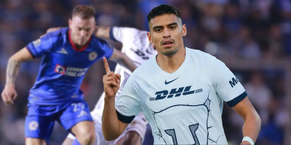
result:
M 122 52 L 127 55 L 132 61 L 135 62 L 136 66 L 140 66 L 150 57 L 157 55 L 157 50 L 152 48 L 152 45 L 148 41 L 147 32 L 141 31 L 135 28 L 125 28 L 125 27 L 111 27 L 110 29 L 110 39 L 119 41 L 123 44 Z M 115 68 L 115 73 L 121 75 L 120 88 L 116 94 L 116 100 L 121 93 L 129 75 L 132 74 L 127 68 L 117 64 Z M 128 131 L 135 131 L 140 135 L 142 141 L 145 136 L 146 121 L 143 113 L 139 113 L 131 124 L 127 126 L 125 131 L 120 135 L 120 137 L 114 141 L 107 142 L 102 133 L 102 113 L 104 108 L 104 97 L 103 92 L 100 99 L 98 100 L 95 108 L 91 111 L 91 116 L 93 117 L 95 123 L 96 139 L 94 145 L 115 145 L 118 140 L 123 137 Z M 68 138 L 74 139 L 72 134 L 68 135 Z

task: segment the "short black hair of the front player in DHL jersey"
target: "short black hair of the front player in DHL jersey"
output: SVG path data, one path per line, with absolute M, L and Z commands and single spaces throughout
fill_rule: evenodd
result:
M 164 14 L 175 14 L 179 19 L 181 19 L 181 14 L 177 8 L 171 5 L 167 4 L 161 4 L 155 8 L 153 8 L 149 13 L 148 13 L 148 23 L 150 23 L 150 20 L 157 17 L 161 16 Z

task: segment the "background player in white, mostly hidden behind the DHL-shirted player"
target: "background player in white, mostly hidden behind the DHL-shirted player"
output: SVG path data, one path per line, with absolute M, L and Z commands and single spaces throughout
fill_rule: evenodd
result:
M 150 57 L 157 55 L 157 51 L 155 50 L 155 46 L 148 41 L 147 31 L 138 30 L 136 28 L 127 28 L 127 27 L 101 27 L 96 26 L 97 32 L 95 36 L 111 39 L 113 41 L 119 41 L 123 44 L 122 52 L 130 57 L 132 61 L 135 62 L 136 66 L 140 66 Z M 49 28 L 47 32 L 52 32 L 58 28 Z M 123 87 L 128 79 L 128 77 L 132 74 L 130 70 L 125 68 L 122 65 L 116 64 L 115 73 L 122 75 L 123 77 L 120 79 L 120 88 L 116 94 L 116 100 L 123 90 Z M 101 95 L 99 101 L 97 102 L 93 111 L 91 111 L 91 116 L 95 122 L 95 131 L 96 131 L 96 139 L 95 145 L 139 145 L 142 144 L 146 125 L 148 122 L 144 118 L 143 113 L 139 113 L 133 122 L 126 128 L 123 134 L 116 140 L 106 142 L 103 137 L 101 130 L 101 118 L 104 106 L 104 97 L 105 93 Z M 74 135 L 69 134 L 63 145 L 72 144 L 75 139 Z

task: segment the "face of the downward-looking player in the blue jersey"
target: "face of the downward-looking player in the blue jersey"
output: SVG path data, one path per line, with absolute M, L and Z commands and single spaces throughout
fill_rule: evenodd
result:
M 95 28 L 95 18 L 82 19 L 76 15 L 69 20 L 69 26 L 71 29 L 71 38 L 75 44 L 83 46 L 87 43 L 91 37 Z

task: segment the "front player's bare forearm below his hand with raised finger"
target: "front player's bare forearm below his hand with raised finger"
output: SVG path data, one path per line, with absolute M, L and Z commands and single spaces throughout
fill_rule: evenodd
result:
M 115 110 L 115 98 L 104 97 L 102 114 L 102 133 L 104 139 L 112 141 L 117 139 L 126 127 L 118 120 Z

